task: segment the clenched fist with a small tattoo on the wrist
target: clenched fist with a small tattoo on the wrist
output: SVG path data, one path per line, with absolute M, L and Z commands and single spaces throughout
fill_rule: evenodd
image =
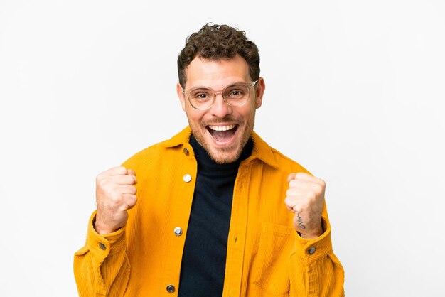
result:
M 304 238 L 316 238 L 323 234 L 321 212 L 324 204 L 326 183 L 307 173 L 291 173 L 287 177 L 287 210 L 294 212 L 294 228 Z

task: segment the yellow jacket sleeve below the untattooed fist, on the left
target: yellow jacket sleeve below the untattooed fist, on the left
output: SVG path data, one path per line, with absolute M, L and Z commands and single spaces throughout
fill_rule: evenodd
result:
M 79 296 L 123 296 L 130 265 L 125 227 L 100 235 L 94 229 L 96 213 L 90 218 L 85 246 L 74 255 L 74 276 Z

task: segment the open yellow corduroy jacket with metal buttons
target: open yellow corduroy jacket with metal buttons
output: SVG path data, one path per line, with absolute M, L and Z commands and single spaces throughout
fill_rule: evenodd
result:
M 111 234 L 95 232 L 92 214 L 74 258 L 80 296 L 177 296 L 197 173 L 190 136 L 187 127 L 123 164 L 136 172 L 138 201 L 127 226 Z M 252 139 L 233 190 L 223 296 L 344 296 L 326 205 L 324 233 L 304 239 L 284 204 L 287 175 L 308 171 L 254 132 Z

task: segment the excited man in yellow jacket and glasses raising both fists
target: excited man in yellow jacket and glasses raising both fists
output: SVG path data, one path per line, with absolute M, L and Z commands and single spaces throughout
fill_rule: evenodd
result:
M 178 75 L 189 126 L 97 175 L 80 296 L 343 296 L 325 183 L 253 131 L 257 46 L 207 24 Z

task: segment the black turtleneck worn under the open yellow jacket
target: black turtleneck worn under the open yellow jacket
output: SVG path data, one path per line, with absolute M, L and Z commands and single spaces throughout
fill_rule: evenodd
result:
M 252 154 L 249 139 L 240 158 L 215 163 L 193 135 L 190 144 L 198 162 L 195 192 L 184 246 L 179 297 L 223 296 L 227 237 L 235 178 L 241 161 Z

